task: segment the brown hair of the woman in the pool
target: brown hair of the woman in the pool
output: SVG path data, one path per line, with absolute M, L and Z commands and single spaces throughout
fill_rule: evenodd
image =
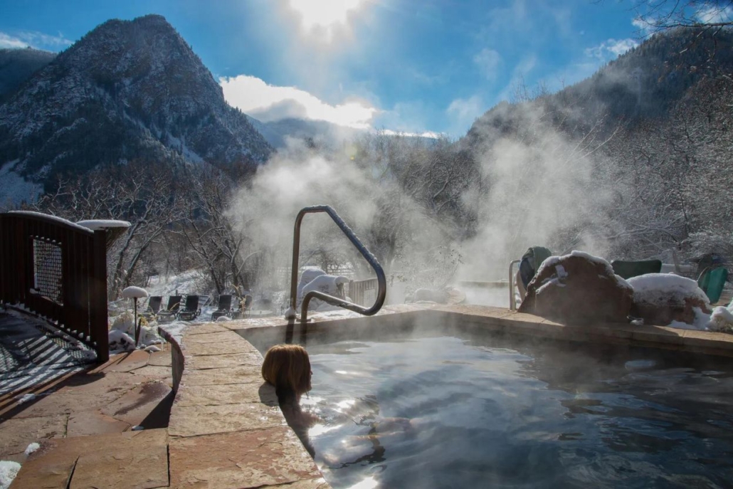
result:
M 311 361 L 301 345 L 275 345 L 265 353 L 262 378 L 276 389 L 290 389 L 296 395 L 311 390 Z

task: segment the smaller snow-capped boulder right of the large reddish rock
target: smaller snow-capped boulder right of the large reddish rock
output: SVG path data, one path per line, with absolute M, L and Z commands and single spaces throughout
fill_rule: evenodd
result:
M 628 280 L 634 289 L 631 315 L 645 324 L 667 326 L 671 323 L 701 324 L 710 314 L 710 301 L 697 282 L 671 273 L 647 273 Z

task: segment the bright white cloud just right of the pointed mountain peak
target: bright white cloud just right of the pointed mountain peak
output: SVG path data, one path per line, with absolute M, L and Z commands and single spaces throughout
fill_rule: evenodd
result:
M 262 122 L 298 117 L 366 129 L 378 112 L 364 100 L 347 100 L 330 105 L 305 90 L 276 87 L 255 76 L 219 78 L 219 84 L 230 105 Z

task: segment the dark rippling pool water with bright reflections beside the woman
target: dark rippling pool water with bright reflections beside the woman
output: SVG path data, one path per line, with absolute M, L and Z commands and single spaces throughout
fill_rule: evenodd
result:
M 454 337 L 308 349 L 334 488 L 733 487 L 730 370 Z

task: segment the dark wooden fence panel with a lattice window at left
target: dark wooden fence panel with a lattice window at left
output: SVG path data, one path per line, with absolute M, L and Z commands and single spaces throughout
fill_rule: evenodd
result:
M 0 301 L 22 304 L 107 361 L 106 232 L 33 212 L 0 214 Z

